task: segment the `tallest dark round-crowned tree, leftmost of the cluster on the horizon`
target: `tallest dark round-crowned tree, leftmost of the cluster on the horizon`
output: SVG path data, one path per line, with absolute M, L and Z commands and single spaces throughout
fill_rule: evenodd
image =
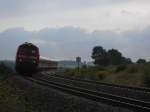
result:
M 91 57 L 94 59 L 94 64 L 104 66 L 108 65 L 107 52 L 101 46 L 96 46 L 93 48 Z

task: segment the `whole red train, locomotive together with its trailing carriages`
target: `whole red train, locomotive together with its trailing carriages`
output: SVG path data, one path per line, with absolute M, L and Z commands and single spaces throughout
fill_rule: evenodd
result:
M 44 59 L 40 56 L 39 48 L 25 42 L 18 46 L 15 69 L 17 73 L 32 75 L 45 70 L 57 69 L 58 62 Z

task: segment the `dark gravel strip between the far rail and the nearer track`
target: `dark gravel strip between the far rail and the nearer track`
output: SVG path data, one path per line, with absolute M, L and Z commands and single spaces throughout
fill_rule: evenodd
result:
M 42 77 L 41 74 L 38 74 L 40 77 Z M 115 94 L 119 96 L 124 96 L 124 97 L 130 97 L 138 100 L 143 100 L 143 101 L 148 101 L 150 102 L 150 92 L 141 92 L 141 91 L 135 91 L 131 89 L 126 89 L 126 88 L 119 88 L 119 87 L 111 87 L 107 85 L 101 85 L 101 84 L 91 84 L 91 83 L 84 83 L 81 81 L 71 81 L 71 80 L 65 80 L 62 78 L 57 78 L 57 77 L 51 77 L 50 75 L 45 77 L 49 77 L 49 80 L 55 80 L 57 82 L 63 83 L 63 84 L 70 84 L 78 87 L 84 87 L 87 89 L 92 89 L 95 91 L 101 91 L 101 92 L 106 92 L 110 94 Z

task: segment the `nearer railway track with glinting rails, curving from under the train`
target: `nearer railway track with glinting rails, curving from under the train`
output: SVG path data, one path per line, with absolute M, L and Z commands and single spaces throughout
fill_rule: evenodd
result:
M 69 94 L 90 99 L 96 102 L 103 102 L 114 106 L 121 106 L 124 108 L 129 108 L 140 112 L 150 111 L 150 102 L 140 101 L 128 97 L 122 97 L 122 96 L 112 95 L 105 92 L 100 92 L 100 91 L 98 92 L 86 88 L 63 84 L 55 80 L 49 80 L 46 77 L 41 77 L 41 78 L 27 77 L 27 79 L 47 87 L 58 89 L 60 91 L 64 91 Z

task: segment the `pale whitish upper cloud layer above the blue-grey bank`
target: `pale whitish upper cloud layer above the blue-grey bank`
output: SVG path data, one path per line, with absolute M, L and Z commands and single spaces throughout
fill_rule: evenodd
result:
M 150 25 L 146 0 L 0 0 L 0 30 L 75 26 L 94 30 L 141 30 Z

